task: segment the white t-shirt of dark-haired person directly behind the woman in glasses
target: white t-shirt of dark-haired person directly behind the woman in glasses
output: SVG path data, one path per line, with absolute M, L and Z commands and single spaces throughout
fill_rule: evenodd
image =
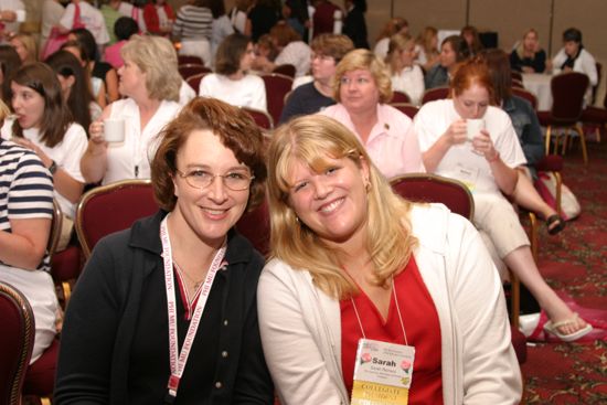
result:
M 266 86 L 262 77 L 246 74 L 239 81 L 216 73 L 200 82 L 199 96 L 214 97 L 238 107 L 267 111 Z

